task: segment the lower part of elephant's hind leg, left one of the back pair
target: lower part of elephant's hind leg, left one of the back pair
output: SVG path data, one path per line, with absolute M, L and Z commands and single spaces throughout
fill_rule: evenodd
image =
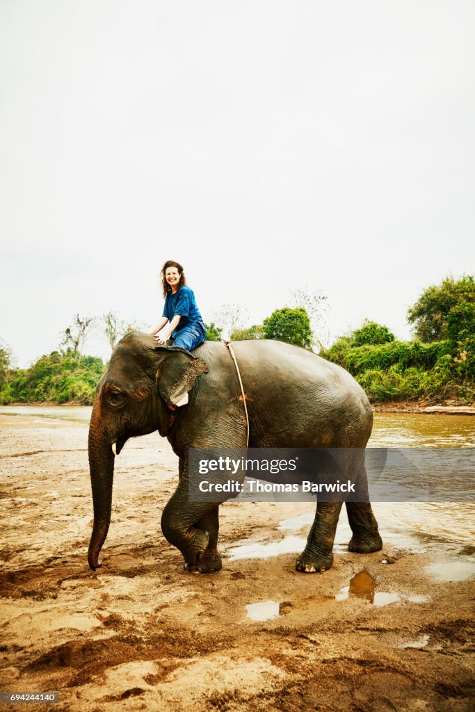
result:
M 341 502 L 318 502 L 306 548 L 296 561 L 297 571 L 313 574 L 331 567 L 333 542 L 341 507 Z

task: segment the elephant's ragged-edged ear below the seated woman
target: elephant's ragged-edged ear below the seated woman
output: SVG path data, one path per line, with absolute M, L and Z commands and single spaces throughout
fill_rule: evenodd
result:
M 155 350 L 166 353 L 157 372 L 158 390 L 167 406 L 174 410 L 177 404 L 187 402 L 194 382 L 202 373 L 208 372 L 208 366 L 179 346 L 157 346 Z

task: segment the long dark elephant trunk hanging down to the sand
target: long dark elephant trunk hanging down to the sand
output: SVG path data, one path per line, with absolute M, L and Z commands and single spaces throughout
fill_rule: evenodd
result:
M 93 571 L 100 566 L 99 553 L 108 535 L 114 479 L 114 454 L 110 437 L 101 428 L 95 410 L 96 406 L 91 417 L 88 444 L 94 506 L 94 526 L 90 537 L 88 562 Z

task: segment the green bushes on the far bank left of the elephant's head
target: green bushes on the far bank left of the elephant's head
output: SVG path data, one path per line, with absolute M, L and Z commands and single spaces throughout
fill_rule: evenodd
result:
M 68 403 L 90 405 L 95 386 L 103 375 L 103 360 L 79 357 L 72 349 L 42 356 L 28 369 L 11 372 L 9 384 L 0 388 L 0 402 Z

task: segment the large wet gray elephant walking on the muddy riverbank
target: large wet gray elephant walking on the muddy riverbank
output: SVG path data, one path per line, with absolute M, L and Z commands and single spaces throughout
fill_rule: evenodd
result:
M 296 346 L 258 340 L 233 343 L 249 411 L 249 447 L 364 448 L 372 428 L 365 393 L 340 367 Z M 189 393 L 189 404 L 175 404 Z M 189 503 L 188 448 L 245 447 L 246 419 L 236 368 L 226 346 L 204 342 L 193 354 L 158 346 L 146 334 L 125 336 L 98 383 L 89 430 L 94 528 L 88 560 L 95 570 L 108 533 L 114 459 L 128 438 L 155 430 L 179 456 L 179 484 L 162 513 L 162 531 L 191 572 L 221 568 L 219 506 Z M 366 482 L 364 458 L 344 475 Z M 362 478 L 362 479 L 361 479 Z M 324 571 L 342 504 L 319 502 L 296 568 Z M 369 503 L 346 503 L 351 551 L 382 548 Z

